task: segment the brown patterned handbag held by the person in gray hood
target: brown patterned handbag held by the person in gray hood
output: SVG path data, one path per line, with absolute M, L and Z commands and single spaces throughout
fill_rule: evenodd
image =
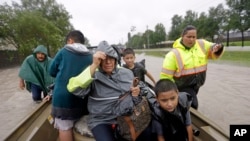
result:
M 139 80 L 134 80 L 137 86 Z M 133 101 L 130 92 L 122 95 L 116 105 L 114 112 L 118 114 L 116 133 L 129 141 L 135 141 L 151 121 L 151 110 L 145 96 L 139 95 L 138 101 Z M 120 115 L 120 116 L 119 116 Z

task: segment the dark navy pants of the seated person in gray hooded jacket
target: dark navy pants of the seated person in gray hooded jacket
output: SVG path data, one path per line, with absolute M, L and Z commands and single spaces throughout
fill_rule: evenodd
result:
M 100 124 L 92 129 L 96 141 L 115 141 L 115 134 L 110 124 Z

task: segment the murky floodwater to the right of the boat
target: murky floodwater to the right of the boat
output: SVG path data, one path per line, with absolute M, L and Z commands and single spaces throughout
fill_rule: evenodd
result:
M 137 60 L 140 59 L 137 57 Z M 146 57 L 146 68 L 156 80 L 159 79 L 162 62 L 163 58 Z M 228 135 L 231 124 L 249 125 L 250 67 L 209 63 L 207 79 L 199 90 L 198 101 L 198 111 Z

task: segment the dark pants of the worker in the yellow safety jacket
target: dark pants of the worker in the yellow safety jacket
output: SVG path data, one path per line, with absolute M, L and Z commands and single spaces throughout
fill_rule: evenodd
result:
M 197 98 L 197 94 L 199 92 L 199 88 L 184 88 L 184 89 L 180 89 L 180 92 L 187 92 L 189 93 L 193 100 L 192 100 L 192 104 L 191 107 L 193 107 L 194 109 L 198 109 L 198 98 Z

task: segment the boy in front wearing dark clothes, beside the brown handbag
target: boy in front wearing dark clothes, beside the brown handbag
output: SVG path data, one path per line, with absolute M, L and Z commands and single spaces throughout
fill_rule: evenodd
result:
M 158 141 L 192 141 L 193 131 L 189 107 L 191 97 L 179 93 L 169 79 L 159 80 L 154 88 L 152 132 Z

